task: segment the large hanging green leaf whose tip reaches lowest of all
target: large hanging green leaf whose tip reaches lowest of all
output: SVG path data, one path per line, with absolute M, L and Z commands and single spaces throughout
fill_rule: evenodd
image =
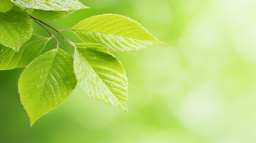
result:
M 21 73 L 18 91 L 30 125 L 63 104 L 75 86 L 73 58 L 62 49 L 48 51 L 29 64 Z

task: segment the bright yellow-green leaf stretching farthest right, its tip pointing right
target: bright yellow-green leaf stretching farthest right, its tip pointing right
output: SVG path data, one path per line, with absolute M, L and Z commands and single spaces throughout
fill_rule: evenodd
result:
M 76 33 L 83 42 L 99 43 L 118 54 L 163 43 L 137 21 L 117 14 L 96 15 L 69 30 Z

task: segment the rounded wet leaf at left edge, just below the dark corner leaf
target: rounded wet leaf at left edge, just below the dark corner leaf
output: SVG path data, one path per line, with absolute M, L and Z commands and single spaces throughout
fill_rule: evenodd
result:
M 20 46 L 32 36 L 29 15 L 19 7 L 7 13 L 0 13 L 0 43 L 18 51 Z

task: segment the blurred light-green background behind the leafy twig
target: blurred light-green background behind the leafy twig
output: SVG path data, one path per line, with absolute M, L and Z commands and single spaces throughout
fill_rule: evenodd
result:
M 168 43 L 117 55 L 129 79 L 129 115 L 77 87 L 30 128 L 17 92 L 22 69 L 0 71 L 0 142 L 256 142 L 255 0 L 82 2 L 91 9 L 50 24 L 67 29 L 92 15 L 116 13 Z M 54 41 L 45 51 L 52 48 Z

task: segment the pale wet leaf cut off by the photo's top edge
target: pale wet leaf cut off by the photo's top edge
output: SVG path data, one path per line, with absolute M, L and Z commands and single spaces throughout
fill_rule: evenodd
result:
M 78 0 L 11 0 L 26 8 L 47 11 L 73 11 L 89 8 Z

